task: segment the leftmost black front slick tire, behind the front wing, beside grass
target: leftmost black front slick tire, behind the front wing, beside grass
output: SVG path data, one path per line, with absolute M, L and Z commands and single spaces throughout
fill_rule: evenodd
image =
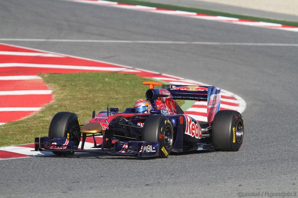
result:
M 69 141 L 74 142 L 74 146 L 78 147 L 80 144 L 80 120 L 76 114 L 70 112 L 58 112 L 53 117 L 49 127 L 49 137 L 66 137 Z M 68 133 L 77 133 L 77 136 L 70 137 Z M 55 152 L 56 155 L 69 156 L 73 155 L 73 151 Z

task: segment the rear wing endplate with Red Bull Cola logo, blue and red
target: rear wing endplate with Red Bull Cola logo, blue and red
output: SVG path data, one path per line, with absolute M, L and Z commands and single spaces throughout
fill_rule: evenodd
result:
M 216 87 L 208 88 L 207 96 L 207 120 L 212 122 L 217 111 L 220 109 L 221 104 L 221 90 Z

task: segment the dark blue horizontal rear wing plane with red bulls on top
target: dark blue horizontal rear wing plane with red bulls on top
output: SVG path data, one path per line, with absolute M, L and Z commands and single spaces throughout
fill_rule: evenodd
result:
M 214 86 L 196 86 L 196 85 L 176 85 L 176 84 L 164 84 L 163 89 L 167 89 L 173 99 L 175 100 L 208 100 L 208 89 L 217 90 Z M 210 91 L 211 91 L 210 90 Z

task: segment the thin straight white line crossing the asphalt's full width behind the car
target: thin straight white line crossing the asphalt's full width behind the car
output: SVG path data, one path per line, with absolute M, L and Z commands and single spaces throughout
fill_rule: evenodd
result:
M 221 43 L 221 42 L 188 42 L 188 41 L 145 41 L 145 40 L 72 40 L 72 39 L 5 39 L 0 41 L 41 41 L 41 42 L 82 42 L 82 43 L 153 43 L 153 44 L 194 44 L 194 45 L 248 45 L 248 46 L 291 46 L 291 43 Z

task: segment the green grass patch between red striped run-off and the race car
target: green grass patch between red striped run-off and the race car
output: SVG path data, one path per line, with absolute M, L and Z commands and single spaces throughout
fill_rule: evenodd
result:
M 53 116 L 60 111 L 77 114 L 82 124 L 91 120 L 93 110 L 105 110 L 107 105 L 124 111 L 133 107 L 136 100 L 145 99 L 149 86 L 142 82 L 152 81 L 124 73 L 51 73 L 40 76 L 53 91 L 54 101 L 29 117 L 1 125 L 0 147 L 27 144 L 33 142 L 34 137 L 47 136 Z M 183 101 L 179 101 L 179 105 L 183 105 Z

